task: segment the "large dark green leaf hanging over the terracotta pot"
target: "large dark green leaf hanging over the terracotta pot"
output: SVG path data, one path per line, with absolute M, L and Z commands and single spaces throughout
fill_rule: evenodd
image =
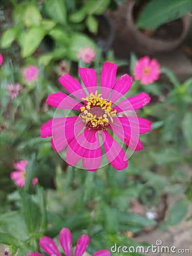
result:
M 192 10 L 191 0 L 151 0 L 136 22 L 137 28 L 156 29 Z

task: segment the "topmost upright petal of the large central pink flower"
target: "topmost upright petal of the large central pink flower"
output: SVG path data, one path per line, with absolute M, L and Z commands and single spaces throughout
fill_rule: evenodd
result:
M 106 61 L 103 64 L 101 71 L 101 93 L 103 98 L 107 98 L 109 94 L 109 90 L 105 90 L 105 88 L 114 88 L 117 69 L 118 66 L 114 63 Z

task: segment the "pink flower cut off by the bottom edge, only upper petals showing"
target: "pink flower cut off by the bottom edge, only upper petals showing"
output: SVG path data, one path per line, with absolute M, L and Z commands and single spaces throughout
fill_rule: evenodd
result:
M 62 250 L 65 253 L 65 256 L 72 256 L 72 234 L 68 228 L 62 228 L 59 234 L 59 242 L 62 247 Z M 83 234 L 77 241 L 76 250 L 74 256 L 82 256 L 85 253 L 87 245 L 90 241 L 89 236 Z M 59 249 L 57 248 L 56 243 L 52 238 L 44 236 L 39 240 L 40 247 L 51 256 L 62 256 Z M 94 253 L 92 256 L 110 256 L 110 251 L 100 250 Z M 43 256 L 41 253 L 28 253 L 27 256 Z

